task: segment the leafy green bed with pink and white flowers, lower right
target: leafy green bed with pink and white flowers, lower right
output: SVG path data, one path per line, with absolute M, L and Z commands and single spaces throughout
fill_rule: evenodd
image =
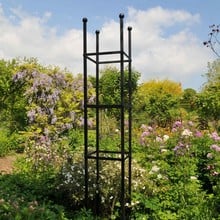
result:
M 219 140 L 190 122 L 172 131 L 142 125 L 141 158 L 152 182 L 148 194 L 134 192 L 134 216 L 146 219 L 218 219 Z M 148 191 L 149 192 L 149 191 Z

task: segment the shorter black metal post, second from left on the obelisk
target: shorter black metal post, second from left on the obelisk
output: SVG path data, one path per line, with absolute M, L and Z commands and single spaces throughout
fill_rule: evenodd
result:
M 99 214 L 99 31 L 96 31 L 96 214 Z

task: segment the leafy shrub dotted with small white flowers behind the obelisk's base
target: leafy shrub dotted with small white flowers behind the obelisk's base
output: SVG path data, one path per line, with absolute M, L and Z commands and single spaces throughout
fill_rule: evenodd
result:
M 89 204 L 94 204 L 97 189 L 100 196 L 101 216 L 117 216 L 120 208 L 120 162 L 102 161 L 100 162 L 100 180 L 96 184 L 96 164 L 95 161 L 89 163 Z M 146 181 L 146 172 L 136 161 L 133 161 L 133 187 L 139 191 L 151 191 L 148 181 Z M 60 198 L 66 199 L 66 203 L 72 209 L 83 207 L 84 201 L 84 160 L 82 152 L 78 152 L 62 169 L 58 181 L 58 193 Z M 97 188 L 98 187 L 98 188 Z M 94 209 L 93 206 L 90 207 Z

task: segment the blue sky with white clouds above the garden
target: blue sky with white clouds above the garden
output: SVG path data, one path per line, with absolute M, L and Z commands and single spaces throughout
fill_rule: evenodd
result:
M 123 13 L 140 83 L 169 79 L 199 90 L 208 62 L 217 59 L 203 41 L 209 26 L 219 24 L 219 10 L 219 0 L 0 0 L 0 59 L 34 57 L 82 73 L 82 19 L 88 18 L 88 51 L 94 52 L 96 30 L 100 51 L 114 51 Z

